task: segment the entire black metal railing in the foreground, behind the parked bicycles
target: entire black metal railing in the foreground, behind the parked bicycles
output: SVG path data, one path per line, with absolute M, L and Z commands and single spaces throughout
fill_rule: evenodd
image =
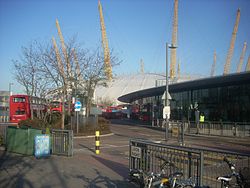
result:
M 250 154 L 212 149 L 158 144 L 147 140 L 132 139 L 129 148 L 129 168 L 145 172 L 159 172 L 162 161 L 157 156 L 174 163 L 182 171 L 182 178 L 192 177 L 197 185 L 220 187 L 216 177 L 230 173 L 223 161 L 227 156 L 236 164 L 236 170 L 250 168 Z M 167 174 L 173 173 L 170 169 Z

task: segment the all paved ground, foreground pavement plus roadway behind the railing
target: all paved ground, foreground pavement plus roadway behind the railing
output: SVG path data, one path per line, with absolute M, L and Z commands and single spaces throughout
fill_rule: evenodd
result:
M 94 153 L 94 137 L 75 138 L 74 156 L 69 158 L 35 159 L 1 150 L 0 187 L 135 187 L 127 181 L 129 140 L 143 138 L 164 142 L 164 132 L 126 123 L 113 124 L 111 130 L 112 135 L 101 137 L 100 155 Z M 249 139 L 239 142 L 228 138 L 189 136 L 185 141 L 192 147 L 250 153 Z M 176 139 L 167 143 L 178 144 Z

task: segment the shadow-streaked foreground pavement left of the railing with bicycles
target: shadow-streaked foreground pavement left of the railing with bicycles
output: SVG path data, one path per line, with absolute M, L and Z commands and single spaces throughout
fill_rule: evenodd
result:
M 93 152 L 36 159 L 0 151 L 0 187 L 134 187 L 128 161 Z

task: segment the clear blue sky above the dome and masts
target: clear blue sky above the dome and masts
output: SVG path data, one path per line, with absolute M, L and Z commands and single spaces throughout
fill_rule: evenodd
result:
M 165 43 L 171 43 L 173 0 L 101 0 L 109 46 L 122 64 L 114 73 L 136 73 L 140 59 L 145 72 L 165 72 Z M 239 29 L 231 64 L 236 67 L 248 43 L 244 68 L 250 52 L 249 0 L 179 0 L 178 49 L 181 73 L 209 76 L 213 53 L 217 53 L 216 75 L 230 45 L 237 9 Z M 77 35 L 86 48 L 101 45 L 98 0 L 0 0 L 0 90 L 21 87 L 13 80 L 12 61 L 20 59 L 21 47 L 37 40 L 47 43 L 55 36 L 58 18 L 65 40 Z

